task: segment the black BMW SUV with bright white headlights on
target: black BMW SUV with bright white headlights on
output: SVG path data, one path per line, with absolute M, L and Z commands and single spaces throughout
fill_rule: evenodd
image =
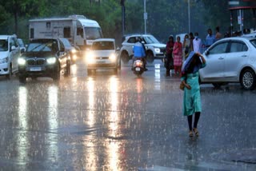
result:
M 70 55 L 59 38 L 30 40 L 27 50 L 18 58 L 19 82 L 26 78 L 50 77 L 60 79 L 61 72 L 70 75 Z

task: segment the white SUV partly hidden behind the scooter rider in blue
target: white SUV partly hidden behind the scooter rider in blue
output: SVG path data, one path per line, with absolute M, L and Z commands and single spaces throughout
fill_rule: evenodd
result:
M 120 55 L 122 62 L 127 63 L 134 56 L 133 46 L 136 42 L 136 38 L 141 38 L 142 43 L 146 47 L 146 61 L 154 62 L 154 59 L 165 58 L 166 44 L 158 42 L 151 34 L 133 34 L 126 36 L 122 42 L 122 48 L 120 50 Z

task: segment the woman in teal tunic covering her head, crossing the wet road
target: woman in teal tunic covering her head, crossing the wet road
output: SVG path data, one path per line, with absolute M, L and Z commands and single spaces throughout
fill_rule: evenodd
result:
M 199 73 L 198 70 L 206 66 L 206 60 L 202 54 L 190 52 L 189 57 L 182 66 L 182 84 L 185 85 L 183 95 L 183 115 L 187 116 L 189 124 L 189 136 L 193 137 L 194 134 L 198 137 L 198 121 L 200 113 L 202 112 L 200 86 L 199 86 Z M 192 120 L 194 114 L 194 125 L 192 129 Z

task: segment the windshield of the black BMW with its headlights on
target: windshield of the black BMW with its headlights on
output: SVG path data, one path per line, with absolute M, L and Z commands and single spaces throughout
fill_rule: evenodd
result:
M 55 40 L 44 40 L 30 42 L 27 52 L 54 52 L 58 51 L 58 42 Z

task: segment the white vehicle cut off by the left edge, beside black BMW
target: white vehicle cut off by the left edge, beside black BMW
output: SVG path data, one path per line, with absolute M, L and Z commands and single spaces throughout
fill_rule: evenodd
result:
M 21 55 L 16 35 L 0 35 L 0 75 L 11 77 L 18 73 L 18 57 Z

